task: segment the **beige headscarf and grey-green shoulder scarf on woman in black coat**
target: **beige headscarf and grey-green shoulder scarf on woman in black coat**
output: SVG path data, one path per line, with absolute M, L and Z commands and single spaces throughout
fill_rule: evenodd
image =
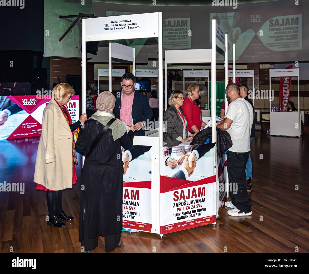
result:
M 106 126 L 112 118 L 115 118 L 115 115 L 110 111 L 114 108 L 115 102 L 116 98 L 112 92 L 101 92 L 96 101 L 96 108 L 98 110 L 90 118 Z M 114 121 L 109 128 L 112 130 L 114 141 L 129 132 L 129 127 L 121 120 Z

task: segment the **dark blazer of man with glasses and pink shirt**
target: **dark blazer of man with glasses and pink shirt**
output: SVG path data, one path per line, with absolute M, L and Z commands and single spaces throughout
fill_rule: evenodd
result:
M 115 118 L 120 119 L 120 109 L 121 109 L 121 96 L 120 97 L 116 96 L 116 103 L 113 111 Z M 134 92 L 134 98 L 133 98 L 132 118 L 133 118 L 133 124 L 145 121 L 146 125 L 147 120 L 150 122 L 152 118 L 152 110 L 149 106 L 147 97 L 136 90 Z M 143 129 L 139 131 L 136 130 L 134 131 L 134 135 L 145 136 L 145 131 Z

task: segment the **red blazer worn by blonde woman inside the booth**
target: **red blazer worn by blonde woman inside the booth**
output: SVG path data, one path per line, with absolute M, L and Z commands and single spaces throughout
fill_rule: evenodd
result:
M 181 107 L 182 110 L 184 111 L 184 116 L 188 121 L 188 130 L 190 132 L 193 132 L 191 126 L 194 125 L 196 125 L 197 129 L 200 131 L 203 122 L 201 109 L 197 106 L 195 101 L 193 101 L 193 104 L 191 100 L 186 96 L 184 98 L 184 104 Z

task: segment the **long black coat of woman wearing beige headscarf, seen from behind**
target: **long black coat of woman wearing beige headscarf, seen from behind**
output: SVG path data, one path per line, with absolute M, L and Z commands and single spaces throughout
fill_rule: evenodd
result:
M 90 119 L 80 127 L 75 143 L 76 151 L 87 155 L 91 143 L 104 125 Z M 130 149 L 133 145 L 133 131 L 113 140 L 108 129 L 85 163 L 81 171 L 81 198 L 79 215 L 79 241 L 83 241 L 84 197 L 87 202 L 88 238 L 121 233 L 122 230 L 122 183 L 123 162 L 121 146 Z M 83 187 L 84 186 L 84 187 Z

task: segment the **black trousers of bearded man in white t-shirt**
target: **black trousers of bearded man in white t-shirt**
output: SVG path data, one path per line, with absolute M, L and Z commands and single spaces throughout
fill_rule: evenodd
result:
M 232 152 L 227 151 L 227 174 L 229 176 L 230 191 L 229 195 L 232 204 L 240 210 L 240 212 L 248 213 L 251 206 L 248 202 L 248 191 L 246 181 L 246 165 L 249 158 L 248 152 Z M 232 186 L 232 188 L 231 188 Z M 233 191 L 235 190 L 235 192 Z

